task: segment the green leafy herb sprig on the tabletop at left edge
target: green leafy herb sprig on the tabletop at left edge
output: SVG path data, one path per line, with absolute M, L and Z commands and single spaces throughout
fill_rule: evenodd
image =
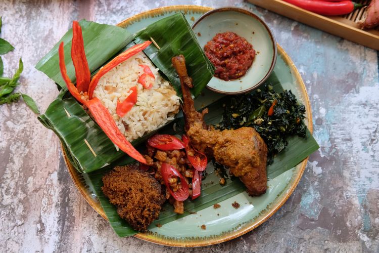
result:
M 2 31 L 2 17 L 0 17 L 0 33 Z M 0 55 L 5 55 L 15 48 L 5 39 L 0 38 Z M 4 63 L 3 59 L 0 57 L 0 105 L 11 104 L 23 98 L 25 104 L 36 114 L 40 114 L 38 107 L 34 100 L 26 94 L 14 93 L 16 87 L 20 85 L 18 80 L 20 79 L 21 73 L 24 70 L 24 64 L 20 58 L 18 69 L 12 78 L 3 77 L 4 74 Z

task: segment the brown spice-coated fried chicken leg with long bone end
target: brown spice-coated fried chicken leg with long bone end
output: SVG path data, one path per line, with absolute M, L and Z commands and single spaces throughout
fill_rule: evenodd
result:
M 265 193 L 267 146 L 263 139 L 254 128 L 220 131 L 207 126 L 204 114 L 208 109 L 197 112 L 189 92 L 193 85 L 187 74 L 184 56 L 173 57 L 172 64 L 180 78 L 185 132 L 191 144 L 199 151 L 213 156 L 218 163 L 229 167 L 230 172 L 245 184 L 250 195 Z

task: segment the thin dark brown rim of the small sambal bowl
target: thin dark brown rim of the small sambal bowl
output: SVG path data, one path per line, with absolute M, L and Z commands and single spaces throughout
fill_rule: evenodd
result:
M 213 92 L 216 92 L 216 93 L 220 93 L 220 94 L 225 94 L 225 95 L 239 95 L 239 94 L 245 94 L 245 93 L 248 93 L 248 92 L 251 92 L 255 89 L 257 89 L 259 86 L 261 86 L 265 81 L 266 79 L 270 76 L 271 72 L 274 70 L 274 67 L 275 67 L 275 63 L 276 63 L 276 58 L 277 58 L 277 45 L 276 45 L 276 39 L 275 39 L 275 36 L 271 30 L 271 28 L 266 24 L 266 22 L 264 22 L 260 17 L 258 17 L 256 14 L 254 14 L 253 12 L 251 11 L 248 11 L 248 10 L 245 10 L 245 9 L 242 9 L 242 8 L 239 8 L 239 7 L 220 7 L 220 8 L 216 8 L 216 9 L 212 9 L 206 13 L 204 13 L 202 16 L 200 16 L 197 20 L 195 20 L 195 22 L 193 23 L 193 25 L 191 26 L 192 29 L 195 29 L 196 25 L 198 25 L 204 18 L 214 14 L 214 13 L 218 13 L 218 12 L 229 12 L 229 11 L 233 11 L 233 12 L 239 12 L 239 13 L 242 13 L 242 14 L 245 14 L 245 15 L 248 15 L 256 20 L 258 20 L 265 28 L 266 28 L 266 31 L 268 32 L 268 35 L 272 41 L 272 47 L 273 47 L 273 57 L 272 57 L 272 60 L 271 60 L 271 65 L 270 65 L 270 68 L 268 69 L 267 73 L 265 76 L 263 76 L 263 78 L 258 81 L 257 83 L 255 83 L 255 85 L 251 86 L 250 88 L 248 89 L 245 89 L 243 91 L 236 91 L 236 92 L 225 92 L 225 91 L 220 91 L 220 90 L 217 90 L 215 88 L 212 88 L 212 87 L 209 87 L 208 85 L 206 86 L 208 90 L 211 90 Z M 221 79 L 222 80 L 222 79 Z M 225 81 L 225 80 L 223 80 Z

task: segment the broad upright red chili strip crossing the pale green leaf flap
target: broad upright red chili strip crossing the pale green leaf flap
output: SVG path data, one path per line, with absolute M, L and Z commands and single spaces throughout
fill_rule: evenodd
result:
M 84 52 L 83 35 L 78 21 L 72 22 L 71 59 L 75 67 L 76 89 L 78 92 L 87 92 L 91 80 L 87 58 Z

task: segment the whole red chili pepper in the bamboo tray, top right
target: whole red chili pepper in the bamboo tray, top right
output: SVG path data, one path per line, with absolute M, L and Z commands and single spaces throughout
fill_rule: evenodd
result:
M 307 11 L 326 16 L 338 16 L 351 13 L 363 5 L 351 1 L 341 1 L 338 3 L 325 2 L 319 0 L 284 0 Z

